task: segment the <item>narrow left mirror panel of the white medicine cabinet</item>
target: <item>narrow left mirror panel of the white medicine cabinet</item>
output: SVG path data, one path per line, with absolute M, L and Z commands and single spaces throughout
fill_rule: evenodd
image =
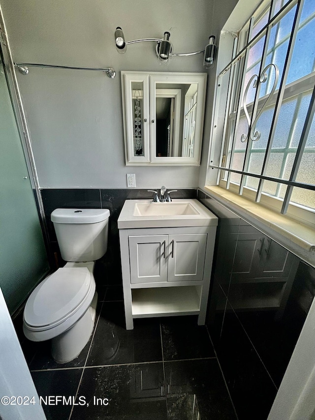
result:
M 131 82 L 133 156 L 144 156 L 143 145 L 143 82 Z

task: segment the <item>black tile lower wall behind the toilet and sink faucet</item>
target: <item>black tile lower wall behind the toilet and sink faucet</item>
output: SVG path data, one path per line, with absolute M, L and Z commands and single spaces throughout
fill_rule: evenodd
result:
M 58 266 L 63 266 L 64 261 L 56 239 L 55 229 L 50 220 L 50 215 L 56 208 L 106 208 L 110 210 L 108 250 L 103 258 L 100 258 L 95 271 L 107 272 L 107 283 L 117 285 L 122 283 L 121 262 L 119 251 L 119 232 L 117 220 L 127 199 L 151 199 L 153 193 L 140 189 L 42 189 L 41 196 L 44 205 L 48 238 L 52 253 L 52 260 Z M 197 198 L 196 189 L 182 189 L 172 193 L 172 198 Z M 53 267 L 54 268 L 54 267 Z M 101 280 L 100 280 L 101 281 Z

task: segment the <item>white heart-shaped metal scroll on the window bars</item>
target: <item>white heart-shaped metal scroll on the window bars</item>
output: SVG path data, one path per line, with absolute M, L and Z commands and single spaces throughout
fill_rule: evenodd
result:
M 270 94 L 268 95 L 268 97 L 267 97 L 267 99 L 266 99 L 266 101 L 265 101 L 265 103 L 263 104 L 263 106 L 262 106 L 262 108 L 260 109 L 260 111 L 258 112 L 258 115 L 255 117 L 254 115 L 253 115 L 253 118 L 255 117 L 255 119 L 254 119 L 254 121 L 253 121 L 253 123 L 252 123 L 252 127 L 251 127 L 251 117 L 250 117 L 250 114 L 249 114 L 249 112 L 248 112 L 248 110 L 247 110 L 247 104 L 246 104 L 246 98 L 247 98 L 247 94 L 248 94 L 248 91 L 249 91 L 249 89 L 250 89 L 250 87 L 251 87 L 251 83 L 252 83 L 252 81 L 255 79 L 255 81 L 254 81 L 254 83 L 253 83 L 253 88 L 256 88 L 257 89 L 257 87 L 258 87 L 258 85 L 259 85 L 259 83 L 265 83 L 266 82 L 266 80 L 267 80 L 267 78 L 268 78 L 268 75 L 267 75 L 267 70 L 268 70 L 268 68 L 274 68 L 274 70 L 275 70 L 275 80 L 274 80 L 274 84 L 273 84 L 273 87 L 272 87 L 272 89 L 271 89 L 271 92 L 270 92 Z M 252 141 L 257 141 L 257 140 L 259 140 L 260 139 L 260 137 L 261 137 L 261 132 L 260 131 L 255 131 L 255 128 L 256 128 L 256 124 L 257 124 L 257 121 L 258 121 L 258 119 L 259 119 L 259 117 L 260 117 L 260 115 L 263 113 L 263 111 L 265 110 L 265 108 L 266 108 L 266 106 L 267 106 L 267 103 L 268 103 L 268 101 L 269 101 L 269 99 L 273 96 L 273 94 L 274 94 L 274 92 L 275 92 L 275 90 L 276 90 L 276 87 L 277 87 L 277 85 L 278 85 L 278 80 L 279 80 L 279 67 L 278 67 L 278 65 L 276 65 L 276 64 L 268 64 L 263 70 L 262 70 L 262 72 L 261 72 L 261 74 L 260 74 L 260 76 L 258 76 L 257 74 L 254 74 L 252 77 L 251 77 L 251 79 L 250 79 L 250 81 L 248 82 L 248 84 L 247 84 L 247 86 L 246 86 L 246 89 L 245 89 L 245 92 L 244 92 L 244 97 L 243 97 L 243 107 L 244 107 L 244 112 L 245 112 L 245 115 L 246 115 L 246 119 L 247 119 L 247 122 L 248 122 L 248 127 L 249 127 L 249 132 L 248 132 L 248 134 L 247 134 L 247 136 L 245 136 L 245 134 L 242 134 L 242 136 L 241 136 L 241 142 L 245 142 L 245 141 L 247 141 L 248 140 L 248 138 L 250 138 Z

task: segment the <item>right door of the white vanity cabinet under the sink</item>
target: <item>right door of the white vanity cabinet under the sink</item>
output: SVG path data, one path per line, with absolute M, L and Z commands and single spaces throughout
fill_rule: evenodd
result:
M 168 236 L 169 282 L 202 281 L 207 244 L 206 233 Z

